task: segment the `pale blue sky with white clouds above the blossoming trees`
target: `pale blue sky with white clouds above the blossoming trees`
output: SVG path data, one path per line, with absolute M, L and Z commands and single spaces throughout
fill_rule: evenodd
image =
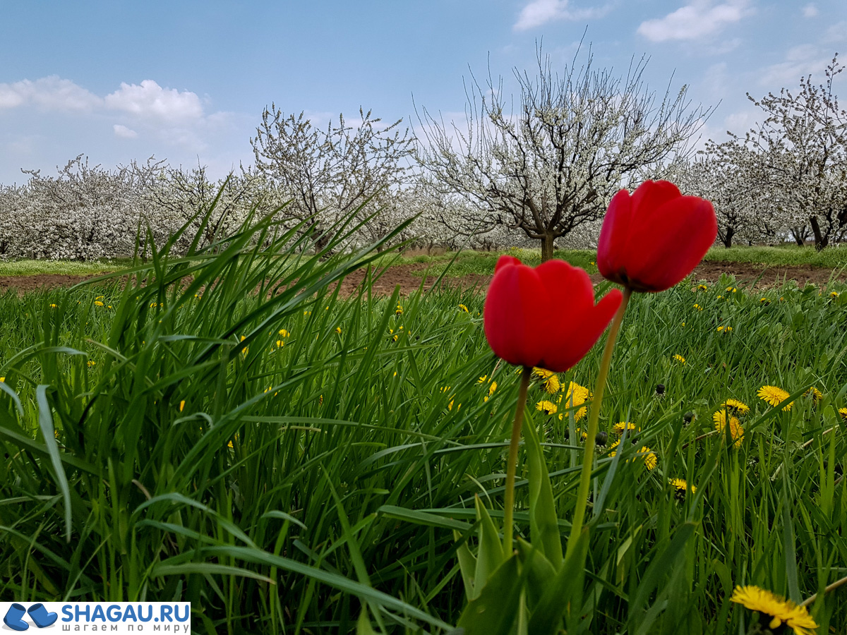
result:
M 490 67 L 512 92 L 537 41 L 562 69 L 586 27 L 596 68 L 625 74 L 646 54 L 660 99 L 673 73 L 673 95 L 688 84 L 693 104 L 721 102 L 703 130 L 719 141 L 761 119 L 745 92 L 823 80 L 833 52 L 847 63 L 844 0 L 0 0 L 0 184 L 80 153 L 108 167 L 199 161 L 222 176 L 252 163 L 271 102 L 322 127 L 360 105 L 418 127 L 413 94 L 462 120 L 469 69 L 482 80 Z M 847 73 L 836 86 L 847 105 Z

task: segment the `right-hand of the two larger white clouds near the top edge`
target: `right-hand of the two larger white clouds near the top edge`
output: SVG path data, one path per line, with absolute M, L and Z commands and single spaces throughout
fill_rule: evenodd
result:
M 664 18 L 645 20 L 638 32 L 650 41 L 695 40 L 751 14 L 747 4 L 748 0 L 729 0 L 712 6 L 711 0 L 695 0 Z

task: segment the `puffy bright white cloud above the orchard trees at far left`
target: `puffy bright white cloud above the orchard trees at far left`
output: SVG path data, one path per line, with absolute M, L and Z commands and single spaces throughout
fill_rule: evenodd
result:
M 191 91 L 162 88 L 153 80 L 141 86 L 121 82 L 120 88 L 105 98 L 107 108 L 123 110 L 141 119 L 158 119 L 168 123 L 202 119 L 200 98 Z

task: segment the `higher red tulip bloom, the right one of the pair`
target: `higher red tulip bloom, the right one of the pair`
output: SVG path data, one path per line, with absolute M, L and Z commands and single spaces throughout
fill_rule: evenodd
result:
M 667 181 L 645 181 L 612 198 L 600 240 L 597 269 L 634 291 L 670 289 L 691 273 L 717 236 L 711 202 L 682 196 Z

